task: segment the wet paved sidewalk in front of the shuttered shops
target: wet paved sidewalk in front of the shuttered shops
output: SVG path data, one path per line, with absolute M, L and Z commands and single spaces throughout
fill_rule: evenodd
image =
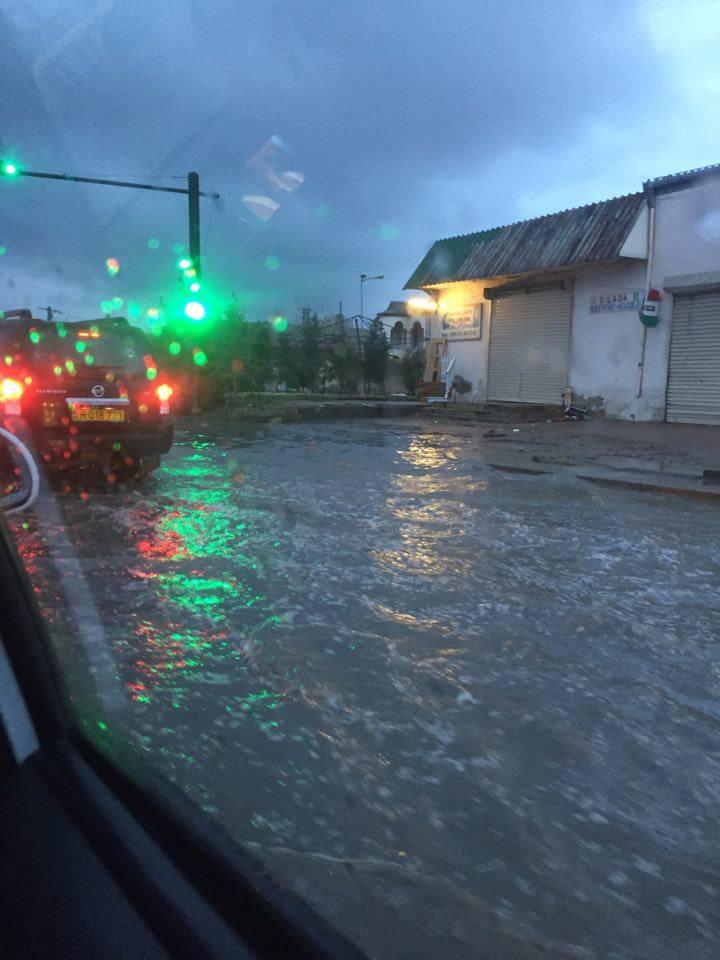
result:
M 720 498 L 720 426 L 585 420 L 478 429 L 497 469 Z

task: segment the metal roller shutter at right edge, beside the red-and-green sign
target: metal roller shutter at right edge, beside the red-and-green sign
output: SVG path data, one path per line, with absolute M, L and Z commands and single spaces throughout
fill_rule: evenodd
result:
M 675 294 L 667 419 L 720 424 L 720 290 Z

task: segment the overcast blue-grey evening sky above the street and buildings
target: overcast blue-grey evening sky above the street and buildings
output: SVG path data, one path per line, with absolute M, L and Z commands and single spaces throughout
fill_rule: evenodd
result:
M 374 313 L 438 237 L 719 162 L 718 49 L 720 0 L 22 0 L 0 12 L 0 153 L 197 170 L 222 196 L 202 205 L 207 283 L 251 319 L 356 313 L 361 272 L 385 274 Z M 271 137 L 293 191 L 248 166 Z M 266 222 L 242 199 L 263 194 Z M 182 196 L 0 181 L 0 307 L 147 309 L 177 244 Z

